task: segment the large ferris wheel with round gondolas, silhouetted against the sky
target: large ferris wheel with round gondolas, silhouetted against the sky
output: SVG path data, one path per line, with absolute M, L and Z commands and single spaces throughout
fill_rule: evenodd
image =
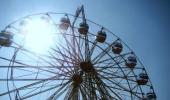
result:
M 156 100 L 145 67 L 118 36 L 75 15 L 45 12 L 0 32 L 0 99 Z

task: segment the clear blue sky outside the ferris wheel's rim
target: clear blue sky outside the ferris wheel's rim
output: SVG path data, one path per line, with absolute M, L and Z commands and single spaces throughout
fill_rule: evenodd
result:
M 32 13 L 74 14 L 81 4 L 88 19 L 110 29 L 135 51 L 151 78 L 158 100 L 168 100 L 170 2 L 166 0 L 1 0 L 0 29 Z

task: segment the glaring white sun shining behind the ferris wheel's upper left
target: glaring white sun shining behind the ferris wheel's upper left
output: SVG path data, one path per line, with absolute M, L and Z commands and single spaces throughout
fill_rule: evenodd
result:
M 31 19 L 22 27 L 25 46 L 31 51 L 43 53 L 54 44 L 55 27 L 47 20 Z

